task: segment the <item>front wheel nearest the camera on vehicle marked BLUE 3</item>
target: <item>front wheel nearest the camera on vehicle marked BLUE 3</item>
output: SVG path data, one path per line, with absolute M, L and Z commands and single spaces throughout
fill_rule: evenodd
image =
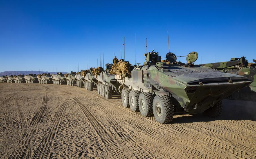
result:
M 157 95 L 153 100 L 153 114 L 159 123 L 170 123 L 174 114 L 174 106 L 167 95 Z

